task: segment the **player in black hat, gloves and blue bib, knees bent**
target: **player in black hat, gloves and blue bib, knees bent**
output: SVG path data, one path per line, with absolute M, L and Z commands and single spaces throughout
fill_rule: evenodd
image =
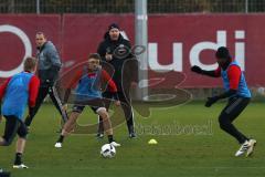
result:
M 215 58 L 219 64 L 218 70 L 204 71 L 201 67 L 194 65 L 191 67 L 191 71 L 212 77 L 222 76 L 225 92 L 213 97 L 208 97 L 205 106 L 211 107 L 211 105 L 219 100 L 226 97 L 229 98 L 227 105 L 219 116 L 220 127 L 236 138 L 241 144 L 241 147 L 235 153 L 235 156 L 237 157 L 246 154 L 247 157 L 253 153 L 256 140 L 246 137 L 232 123 L 250 103 L 251 92 L 247 87 L 244 74 L 241 71 L 240 65 L 236 61 L 232 60 L 226 48 L 219 48 L 215 53 Z

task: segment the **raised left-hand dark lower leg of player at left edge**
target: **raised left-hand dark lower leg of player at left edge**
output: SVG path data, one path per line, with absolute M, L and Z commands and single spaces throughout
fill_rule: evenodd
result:
M 4 117 L 6 117 L 6 127 L 4 127 L 3 136 L 0 137 L 0 146 L 11 145 L 20 125 L 17 117 L 14 116 L 4 116 Z

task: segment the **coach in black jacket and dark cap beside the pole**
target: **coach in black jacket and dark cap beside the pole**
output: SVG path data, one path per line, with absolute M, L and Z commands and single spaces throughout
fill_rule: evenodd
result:
M 113 23 L 108 27 L 108 31 L 104 37 L 104 41 L 100 42 L 97 53 L 100 54 L 103 61 L 109 63 L 115 69 L 113 80 L 118 88 L 119 101 L 125 104 L 123 110 L 127 121 L 129 137 L 134 138 L 136 134 L 129 90 L 131 85 L 136 86 L 138 84 L 138 62 L 130 50 L 130 42 L 124 39 L 119 27 Z M 113 98 L 112 93 L 108 91 L 103 96 Z M 106 102 L 105 104 L 106 108 L 109 108 L 110 103 Z M 99 119 L 98 137 L 103 137 L 103 129 L 102 119 Z

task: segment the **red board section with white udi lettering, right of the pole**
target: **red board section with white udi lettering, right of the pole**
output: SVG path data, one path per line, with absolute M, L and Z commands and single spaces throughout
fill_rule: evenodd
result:
M 191 65 L 198 64 L 197 58 L 205 69 L 214 69 L 209 65 L 215 63 L 214 50 L 211 48 L 216 48 L 216 43 L 229 46 L 231 54 L 243 63 L 250 85 L 265 85 L 265 77 L 262 76 L 265 74 L 262 70 L 265 65 L 264 21 L 264 14 L 151 15 L 149 43 L 157 43 L 160 64 L 171 64 L 173 55 L 178 58 L 177 64 L 168 67 L 187 74 L 184 86 L 208 87 L 221 84 L 220 81 L 205 79 L 189 71 Z M 153 58 L 149 58 L 149 61 L 151 60 Z

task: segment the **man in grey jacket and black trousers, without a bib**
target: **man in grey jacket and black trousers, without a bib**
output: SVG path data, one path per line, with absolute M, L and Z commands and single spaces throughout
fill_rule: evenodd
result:
M 32 114 L 28 115 L 25 118 L 25 125 L 28 128 L 30 127 L 35 114 L 38 113 L 47 94 L 50 95 L 56 110 L 62 115 L 63 122 L 66 122 L 67 119 L 67 114 L 62 108 L 62 103 L 55 96 L 53 91 L 53 85 L 59 77 L 59 72 L 62 65 L 59 52 L 54 44 L 51 41 L 47 41 L 43 32 L 38 32 L 35 34 L 35 43 L 38 49 L 38 76 L 41 80 L 41 85 L 36 97 L 36 104 L 32 110 Z

